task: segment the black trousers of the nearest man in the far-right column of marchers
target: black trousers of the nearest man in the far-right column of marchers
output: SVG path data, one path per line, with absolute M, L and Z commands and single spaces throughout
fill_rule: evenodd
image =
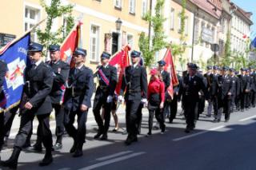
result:
M 226 95 L 226 97 L 218 98 L 218 109 L 223 108 L 223 113 L 225 114 L 225 120 L 229 121 L 230 120 L 230 104 L 231 104 L 231 97 Z M 219 112 L 218 113 L 218 119 L 220 120 L 222 115 L 222 113 Z

